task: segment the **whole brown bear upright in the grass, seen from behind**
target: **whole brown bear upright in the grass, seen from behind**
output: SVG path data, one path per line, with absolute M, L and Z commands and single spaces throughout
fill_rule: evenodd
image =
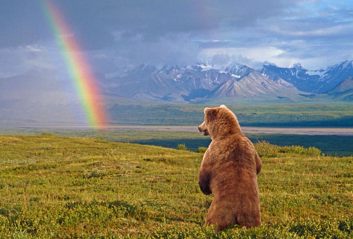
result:
M 204 194 L 214 195 L 206 223 L 217 224 L 216 231 L 235 224 L 259 226 L 261 159 L 226 106 L 205 108 L 204 113 L 199 130 L 212 141 L 203 156 L 199 186 Z

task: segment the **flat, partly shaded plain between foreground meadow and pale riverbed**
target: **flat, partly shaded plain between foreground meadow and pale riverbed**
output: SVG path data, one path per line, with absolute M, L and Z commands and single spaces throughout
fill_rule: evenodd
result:
M 187 148 L 196 151 L 198 147 L 207 147 L 211 141 L 209 137 L 195 131 L 166 131 L 166 130 L 94 130 L 94 129 L 0 129 L 0 134 L 6 135 L 34 135 L 53 133 L 62 136 L 99 138 L 113 142 L 130 142 L 147 145 L 176 148 L 178 144 L 185 144 Z M 315 146 L 324 154 L 332 156 L 352 156 L 353 136 L 337 135 L 296 135 L 296 134 L 267 134 L 247 133 L 252 142 L 268 141 L 280 146 L 299 145 Z

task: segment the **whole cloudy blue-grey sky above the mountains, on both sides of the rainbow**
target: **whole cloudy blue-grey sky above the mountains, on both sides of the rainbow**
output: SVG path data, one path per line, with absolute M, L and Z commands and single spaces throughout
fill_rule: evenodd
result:
M 53 0 L 94 71 L 136 64 L 308 69 L 353 59 L 353 1 Z M 2 0 L 0 77 L 64 69 L 45 0 Z

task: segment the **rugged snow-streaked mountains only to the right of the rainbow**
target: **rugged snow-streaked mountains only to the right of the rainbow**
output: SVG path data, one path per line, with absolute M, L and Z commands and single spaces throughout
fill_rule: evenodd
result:
M 101 83 L 105 95 L 149 102 L 301 101 L 322 96 L 351 101 L 351 76 L 353 61 L 326 70 L 308 70 L 300 63 L 290 68 L 268 64 L 259 70 L 239 63 L 218 68 L 205 63 L 161 68 L 141 64 Z

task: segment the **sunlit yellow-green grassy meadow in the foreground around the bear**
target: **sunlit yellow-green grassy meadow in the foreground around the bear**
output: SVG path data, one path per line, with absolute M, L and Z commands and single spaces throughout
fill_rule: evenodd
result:
M 351 238 L 353 157 L 256 144 L 262 225 L 214 234 L 202 153 L 99 138 L 0 136 L 2 238 Z

